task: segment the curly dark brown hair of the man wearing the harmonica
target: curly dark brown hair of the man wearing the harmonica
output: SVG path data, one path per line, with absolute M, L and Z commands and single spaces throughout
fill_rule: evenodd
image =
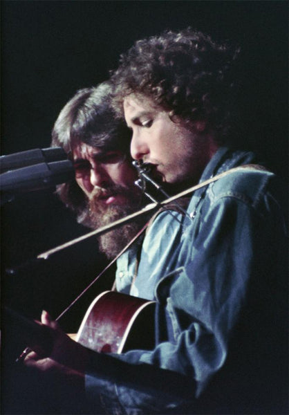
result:
M 171 120 L 205 120 L 217 142 L 223 143 L 236 116 L 233 77 L 238 55 L 239 48 L 214 42 L 191 28 L 139 40 L 120 56 L 118 69 L 111 73 L 113 106 L 122 113 L 125 97 L 145 95 L 169 111 Z

